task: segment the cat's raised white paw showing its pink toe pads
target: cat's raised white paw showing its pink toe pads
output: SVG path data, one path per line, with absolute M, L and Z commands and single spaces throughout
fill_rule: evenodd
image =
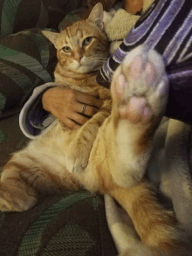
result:
M 168 79 L 161 56 L 143 45 L 129 52 L 112 83 L 121 119 L 133 124 L 156 122 L 168 100 Z

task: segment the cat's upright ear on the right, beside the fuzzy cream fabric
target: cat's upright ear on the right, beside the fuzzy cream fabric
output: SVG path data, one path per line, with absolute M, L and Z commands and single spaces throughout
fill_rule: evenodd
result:
M 97 24 L 100 29 L 103 29 L 103 5 L 102 5 L 102 3 L 97 3 L 93 7 L 93 10 L 91 11 L 87 20 L 93 22 L 94 24 Z

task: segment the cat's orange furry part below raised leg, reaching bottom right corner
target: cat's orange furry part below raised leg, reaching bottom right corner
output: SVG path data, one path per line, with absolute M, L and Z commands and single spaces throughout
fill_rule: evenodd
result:
M 165 209 L 148 183 L 131 189 L 116 187 L 111 195 L 132 218 L 141 241 L 122 256 L 191 256 L 192 243 L 177 222 L 174 211 Z M 120 255 L 121 256 L 121 255 Z

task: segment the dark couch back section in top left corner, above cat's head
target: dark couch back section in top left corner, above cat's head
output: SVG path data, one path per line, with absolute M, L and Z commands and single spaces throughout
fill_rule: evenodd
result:
M 65 15 L 85 0 L 0 0 L 0 37 L 31 28 L 58 29 Z

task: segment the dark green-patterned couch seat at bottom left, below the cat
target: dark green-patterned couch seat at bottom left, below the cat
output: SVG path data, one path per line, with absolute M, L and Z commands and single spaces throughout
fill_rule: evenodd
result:
M 103 197 L 87 191 L 42 197 L 29 211 L 0 212 L 3 256 L 117 255 Z

